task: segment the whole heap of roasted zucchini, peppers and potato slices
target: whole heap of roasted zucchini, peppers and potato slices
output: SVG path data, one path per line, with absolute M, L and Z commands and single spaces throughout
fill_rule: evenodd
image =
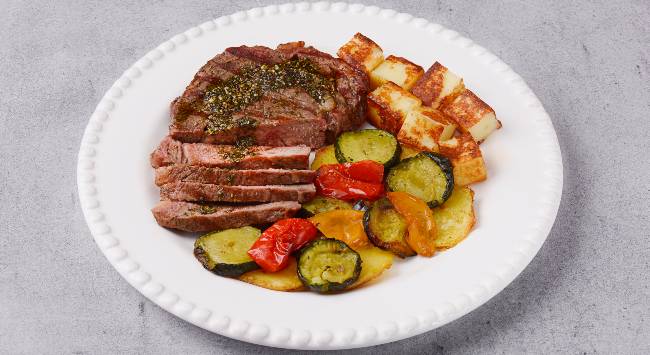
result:
M 206 234 L 195 243 L 203 266 L 273 290 L 330 293 L 375 279 L 394 255 L 431 257 L 469 233 L 473 193 L 454 185 L 447 158 L 386 131 L 352 133 L 316 153 L 317 197 L 301 218 Z

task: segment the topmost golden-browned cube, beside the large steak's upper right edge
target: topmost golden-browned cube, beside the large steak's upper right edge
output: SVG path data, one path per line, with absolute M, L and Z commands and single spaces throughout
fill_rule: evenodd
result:
M 336 53 L 346 63 L 370 73 L 382 61 L 384 52 L 370 38 L 357 33 Z

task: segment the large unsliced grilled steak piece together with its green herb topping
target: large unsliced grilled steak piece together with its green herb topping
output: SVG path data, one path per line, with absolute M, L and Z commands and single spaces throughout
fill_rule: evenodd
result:
M 206 63 L 171 105 L 184 142 L 320 147 L 364 121 L 367 76 L 303 42 L 231 47 Z

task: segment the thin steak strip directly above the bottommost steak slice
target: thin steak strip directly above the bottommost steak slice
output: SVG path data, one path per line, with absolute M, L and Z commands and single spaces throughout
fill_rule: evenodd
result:
M 316 195 L 314 184 L 228 186 L 198 182 L 173 182 L 160 187 L 160 198 L 175 201 L 213 202 L 307 202 Z

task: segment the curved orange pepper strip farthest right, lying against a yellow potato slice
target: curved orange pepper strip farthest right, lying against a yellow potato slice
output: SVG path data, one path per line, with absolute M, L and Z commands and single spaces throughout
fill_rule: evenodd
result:
M 406 192 L 389 192 L 386 197 L 395 210 L 404 216 L 408 226 L 406 243 L 422 256 L 433 256 L 436 252 L 436 221 L 433 212 L 421 199 Z

